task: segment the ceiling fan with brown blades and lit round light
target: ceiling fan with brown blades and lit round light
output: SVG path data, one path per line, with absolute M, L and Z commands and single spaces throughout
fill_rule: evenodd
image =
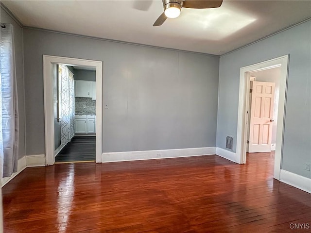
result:
M 216 8 L 220 7 L 223 0 L 162 0 L 164 12 L 155 20 L 153 26 L 160 26 L 167 18 L 176 18 L 180 15 L 181 8 Z

